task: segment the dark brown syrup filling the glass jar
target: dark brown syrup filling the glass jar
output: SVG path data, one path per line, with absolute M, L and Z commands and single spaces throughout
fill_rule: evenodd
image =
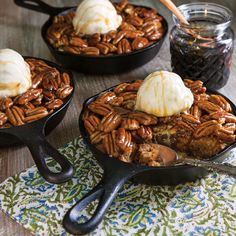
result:
M 182 79 L 201 80 L 207 88 L 220 89 L 229 79 L 233 32 L 228 28 L 221 34 L 211 35 L 212 32 L 204 30 L 204 27 L 214 28 L 217 22 L 201 19 L 190 22 L 190 25 L 201 37 L 179 34 L 176 26 L 172 30 L 170 36 L 172 70 Z

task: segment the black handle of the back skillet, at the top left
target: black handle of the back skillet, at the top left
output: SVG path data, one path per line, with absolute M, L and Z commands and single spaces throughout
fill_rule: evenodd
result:
M 59 8 L 59 7 L 50 6 L 41 0 L 14 0 L 14 2 L 16 5 L 20 7 L 38 11 L 41 13 L 45 13 L 50 16 L 58 15 L 63 10 L 68 9 L 68 7 Z

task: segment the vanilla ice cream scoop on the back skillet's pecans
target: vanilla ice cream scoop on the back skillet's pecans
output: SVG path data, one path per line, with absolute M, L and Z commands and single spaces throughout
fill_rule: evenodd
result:
M 84 0 L 77 8 L 73 19 L 76 34 L 105 34 L 116 30 L 122 22 L 109 0 Z

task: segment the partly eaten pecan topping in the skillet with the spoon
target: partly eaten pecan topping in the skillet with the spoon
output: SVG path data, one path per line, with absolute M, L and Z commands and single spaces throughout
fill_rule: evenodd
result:
M 185 80 L 194 95 L 192 107 L 158 118 L 134 110 L 141 80 L 102 93 L 83 114 L 90 141 L 102 152 L 125 162 L 159 166 L 156 143 L 207 158 L 235 141 L 236 116 L 222 96 L 207 94 L 201 81 Z

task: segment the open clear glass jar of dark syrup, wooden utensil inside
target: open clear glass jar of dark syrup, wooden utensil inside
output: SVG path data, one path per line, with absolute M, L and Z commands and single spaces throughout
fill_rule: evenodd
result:
M 170 33 L 171 66 L 183 79 L 201 80 L 210 89 L 222 88 L 229 79 L 234 33 L 232 12 L 214 3 L 179 7 L 189 25 L 180 23 Z

